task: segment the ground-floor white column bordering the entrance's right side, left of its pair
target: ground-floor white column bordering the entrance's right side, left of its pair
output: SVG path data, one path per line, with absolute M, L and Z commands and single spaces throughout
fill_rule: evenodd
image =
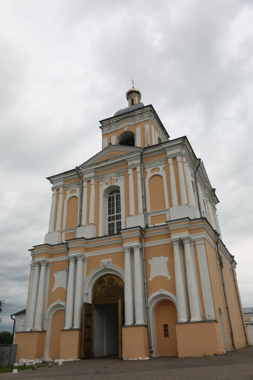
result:
M 131 256 L 130 247 L 124 248 L 125 251 L 125 325 L 129 326 L 134 323 L 133 317 L 133 288 L 131 273 Z

